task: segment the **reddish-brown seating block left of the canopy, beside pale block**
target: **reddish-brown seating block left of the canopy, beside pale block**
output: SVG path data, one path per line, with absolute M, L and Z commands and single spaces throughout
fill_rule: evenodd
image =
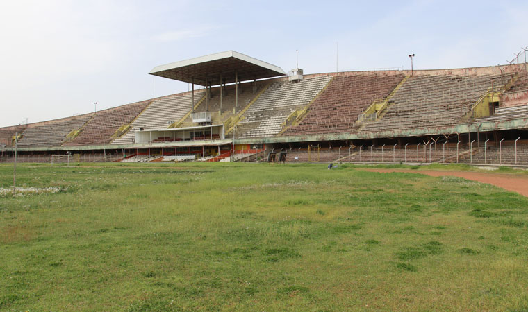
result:
M 108 144 L 114 132 L 122 125 L 130 123 L 149 103 L 150 101 L 142 101 L 101 110 L 83 126 L 81 133 L 73 141 L 66 142 L 64 145 Z

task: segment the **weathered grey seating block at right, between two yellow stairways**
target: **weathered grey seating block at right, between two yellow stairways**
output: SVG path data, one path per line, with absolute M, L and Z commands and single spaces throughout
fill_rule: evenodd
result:
M 411 77 L 389 101 L 381 119 L 361 131 L 454 125 L 470 112 L 488 88 L 504 87 L 511 75 Z

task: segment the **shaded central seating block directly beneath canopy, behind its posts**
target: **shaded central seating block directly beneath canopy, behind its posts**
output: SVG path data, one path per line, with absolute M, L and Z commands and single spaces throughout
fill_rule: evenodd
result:
M 256 92 L 253 93 L 252 83 L 242 83 L 238 86 L 238 107 L 235 107 L 235 85 L 224 87 L 224 98 L 222 98 L 222 112 L 220 112 L 220 87 L 211 88 L 211 97 L 209 103 L 202 101 L 195 112 L 211 112 L 211 123 L 213 125 L 223 124 L 229 117 L 235 116 L 246 107 L 261 89 L 265 83 L 256 84 Z M 235 112 L 233 114 L 233 111 Z M 180 127 L 192 127 L 197 125 L 192 123 L 192 116 L 188 116 Z M 226 129 L 227 130 L 227 129 Z

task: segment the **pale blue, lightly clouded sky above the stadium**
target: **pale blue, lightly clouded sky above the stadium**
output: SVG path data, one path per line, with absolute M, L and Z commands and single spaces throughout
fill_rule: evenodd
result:
M 234 50 L 284 71 L 505 64 L 527 1 L 0 1 L 0 126 L 188 90 L 156 65 Z M 154 88 L 153 88 L 154 85 Z

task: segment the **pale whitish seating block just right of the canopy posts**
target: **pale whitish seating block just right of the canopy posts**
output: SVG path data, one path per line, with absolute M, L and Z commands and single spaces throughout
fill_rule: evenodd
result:
M 298 83 L 273 83 L 249 107 L 235 130 L 237 137 L 272 137 L 295 110 L 305 107 L 331 77 L 306 78 Z

